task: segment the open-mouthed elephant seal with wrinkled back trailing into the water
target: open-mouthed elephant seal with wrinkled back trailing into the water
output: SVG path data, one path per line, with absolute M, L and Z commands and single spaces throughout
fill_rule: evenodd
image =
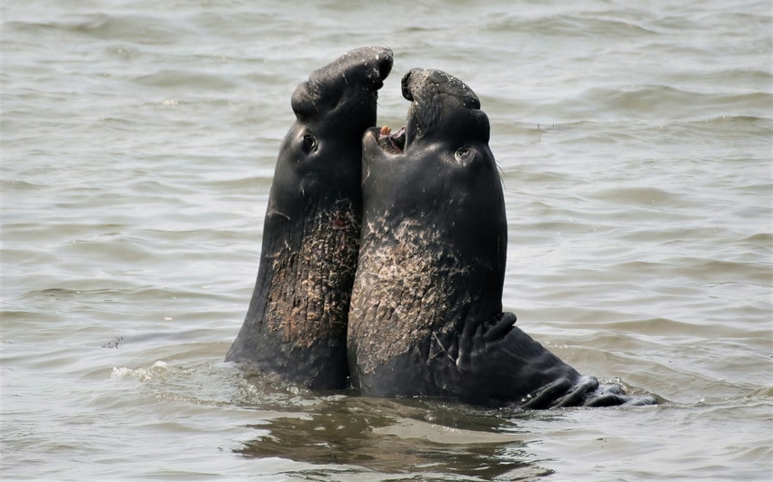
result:
M 406 126 L 371 128 L 363 138 L 352 384 L 364 395 L 487 407 L 631 402 L 502 313 L 507 219 L 477 95 L 452 75 L 423 69 L 408 72 L 402 90 L 411 101 Z

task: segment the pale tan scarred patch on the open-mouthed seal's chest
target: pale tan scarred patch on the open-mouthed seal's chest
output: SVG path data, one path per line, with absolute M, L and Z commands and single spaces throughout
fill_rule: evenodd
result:
M 446 246 L 418 226 L 382 226 L 363 239 L 349 329 L 365 372 L 452 329 L 449 297 L 466 271 Z

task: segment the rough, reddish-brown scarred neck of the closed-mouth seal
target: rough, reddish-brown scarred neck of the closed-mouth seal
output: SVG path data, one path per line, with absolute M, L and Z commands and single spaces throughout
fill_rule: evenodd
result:
M 247 316 L 296 346 L 346 336 L 359 232 L 347 201 L 295 219 L 268 213 Z

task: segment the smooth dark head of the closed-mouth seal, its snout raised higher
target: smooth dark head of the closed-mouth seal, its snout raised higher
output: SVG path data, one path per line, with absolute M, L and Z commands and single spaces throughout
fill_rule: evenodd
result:
M 362 134 L 376 125 L 377 91 L 392 69 L 392 51 L 362 47 L 316 70 L 297 86 L 296 122 L 283 142 L 269 216 L 301 204 L 359 198 Z

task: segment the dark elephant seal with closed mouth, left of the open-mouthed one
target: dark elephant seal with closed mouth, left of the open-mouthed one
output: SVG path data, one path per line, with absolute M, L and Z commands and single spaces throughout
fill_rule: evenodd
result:
M 359 246 L 362 136 L 392 51 L 364 47 L 313 72 L 276 160 L 252 299 L 226 361 L 316 389 L 346 387 Z

